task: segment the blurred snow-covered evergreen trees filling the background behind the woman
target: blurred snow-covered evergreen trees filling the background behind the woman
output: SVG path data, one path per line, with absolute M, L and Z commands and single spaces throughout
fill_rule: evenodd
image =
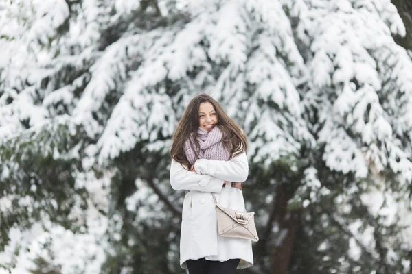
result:
M 411 0 L 2 0 L 0 273 L 185 273 L 171 136 L 249 140 L 249 274 L 412 273 Z

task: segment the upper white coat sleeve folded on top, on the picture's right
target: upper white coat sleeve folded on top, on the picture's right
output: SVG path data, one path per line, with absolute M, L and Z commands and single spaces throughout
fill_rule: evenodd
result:
M 198 159 L 194 163 L 196 173 L 210 175 L 229 182 L 244 182 L 249 174 L 249 164 L 245 152 L 231 160 Z

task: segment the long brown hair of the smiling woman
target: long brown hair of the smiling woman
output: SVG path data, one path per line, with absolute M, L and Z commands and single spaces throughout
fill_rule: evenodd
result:
M 174 130 L 172 138 L 172 148 L 170 149 L 170 158 L 182 164 L 182 166 L 190 169 L 190 162 L 187 160 L 186 155 L 183 151 L 184 145 L 190 135 L 193 134 L 196 137 L 198 127 L 199 127 L 199 105 L 201 103 L 209 102 L 213 105 L 216 115 L 218 117 L 217 127 L 222 130 L 222 145 L 231 151 L 231 158 L 236 157 L 240 153 L 247 151 L 247 138 L 240 126 L 233 121 L 226 112 L 222 109 L 220 104 L 213 99 L 210 95 L 202 93 L 196 95 L 187 105 L 185 112 L 176 129 Z M 201 146 L 196 138 L 193 138 L 196 159 L 201 151 Z

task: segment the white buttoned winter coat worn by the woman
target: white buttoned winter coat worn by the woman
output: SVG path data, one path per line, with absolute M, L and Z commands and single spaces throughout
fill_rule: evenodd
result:
M 242 190 L 231 188 L 225 181 L 244 182 L 249 173 L 246 153 L 228 161 L 199 159 L 194 171 L 187 171 L 179 162 L 172 160 L 170 184 L 174 190 L 190 190 L 185 195 L 182 210 L 180 264 L 187 269 L 186 260 L 220 262 L 240 259 L 237 269 L 253 266 L 251 240 L 224 238 L 216 227 L 216 210 L 211 192 L 219 206 L 244 211 Z

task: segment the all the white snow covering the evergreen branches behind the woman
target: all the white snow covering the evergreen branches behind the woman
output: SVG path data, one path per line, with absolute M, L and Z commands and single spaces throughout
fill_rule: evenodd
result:
M 13 274 L 27 273 L 38 256 L 62 273 L 100 273 L 115 252 L 108 238 L 122 240 L 127 221 L 111 212 L 115 159 L 140 145 L 137 153 L 168 155 L 176 123 L 201 92 L 217 99 L 247 132 L 251 164 L 265 170 L 282 163 L 303 175 L 293 182 L 297 190 L 289 202 L 304 220 L 319 217 L 326 229 L 327 214 L 308 212 L 334 197 L 348 229 L 349 248 L 339 259 L 343 269 L 364 271 L 364 251 L 379 258 L 379 234 L 387 248 L 379 260 L 410 271 L 404 254 L 412 249 L 412 53 L 393 40 L 406 29 L 391 1 L 184 0 L 175 8 L 187 13 L 176 16 L 172 1 L 159 0 L 161 14 L 176 18 L 162 18 L 168 23 L 153 28 L 135 18 L 139 1 L 75 2 L 0 4 L 0 145 L 22 149 L 22 157 L 38 151 L 54 160 L 81 158 L 73 189 L 85 188 L 89 195 L 88 210 L 77 197 L 69 214 L 87 224 L 78 233 L 47 214 L 30 228 L 10 229 L 0 263 L 17 262 Z M 130 27 L 112 37 L 111 27 L 130 18 Z M 19 178 L 16 159 L 0 155 L 0 164 L 1 180 Z M 353 182 L 334 182 L 336 174 Z M 158 179 L 170 194 L 167 179 Z M 41 188 L 27 184 L 32 192 Z M 135 214 L 132 225 L 157 217 L 153 225 L 159 225 L 163 203 L 144 179 L 135 178 L 135 187 L 125 201 Z M 0 198 L 1 212 L 10 211 L 12 199 L 29 212 L 41 208 L 32 193 L 22 193 L 17 184 L 10 189 L 15 193 Z M 266 204 L 275 202 L 271 194 L 264 195 Z M 351 219 L 351 197 L 376 223 Z M 49 203 L 58 206 L 57 199 Z M 258 219 L 264 225 L 268 212 Z M 273 233 L 280 242 L 286 231 L 277 225 Z M 392 226 L 399 230 L 387 236 L 383 231 Z M 313 233 L 310 227 L 305 232 Z M 318 250 L 329 245 L 321 239 Z M 332 258 L 317 256 L 328 264 Z

